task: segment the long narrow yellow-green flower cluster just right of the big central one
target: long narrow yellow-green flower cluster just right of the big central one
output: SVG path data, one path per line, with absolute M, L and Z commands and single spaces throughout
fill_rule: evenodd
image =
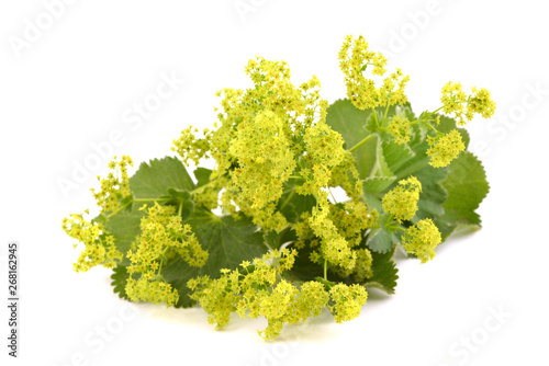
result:
M 306 226 L 320 239 L 320 252 L 313 252 L 313 261 L 326 260 L 333 270 L 350 274 L 355 270 L 357 253 L 352 247 L 361 239 L 363 229 L 372 225 L 370 211 L 360 201 L 362 183 L 358 179 L 352 155 L 343 148 L 341 136 L 333 131 L 324 122 L 305 131 L 306 151 L 302 161 L 309 168 L 301 170 L 304 182 L 295 192 L 312 195 L 316 206 L 306 218 Z M 351 201 L 344 209 L 328 201 L 329 186 L 338 184 Z

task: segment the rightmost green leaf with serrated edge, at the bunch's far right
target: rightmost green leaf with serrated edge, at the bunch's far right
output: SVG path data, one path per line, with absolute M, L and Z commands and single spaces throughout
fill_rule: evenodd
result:
M 464 151 L 448 167 L 442 181 L 448 198 L 445 214 L 435 219 L 442 238 L 463 227 L 480 228 L 480 216 L 474 211 L 484 199 L 490 186 L 482 163 L 471 152 Z

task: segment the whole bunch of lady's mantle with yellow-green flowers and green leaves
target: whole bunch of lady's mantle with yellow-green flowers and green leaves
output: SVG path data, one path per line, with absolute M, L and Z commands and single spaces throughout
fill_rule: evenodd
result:
M 316 77 L 294 85 L 283 61 L 256 58 L 247 90 L 223 89 L 213 129 L 183 129 L 178 157 L 114 158 L 92 190 L 99 215 L 70 215 L 63 229 L 83 248 L 77 272 L 113 268 L 114 291 L 209 313 L 265 317 L 265 339 L 329 309 L 359 316 L 368 288 L 394 291 L 393 256 L 422 263 L 474 213 L 489 185 L 461 128 L 495 104 L 485 89 L 442 87 L 415 114 L 408 77 L 388 73 L 365 38 L 338 54 L 347 98 L 328 105 Z M 213 159 L 213 170 L 184 167 Z M 345 201 L 333 195 L 345 191 Z M 223 215 L 213 213 L 222 208 Z

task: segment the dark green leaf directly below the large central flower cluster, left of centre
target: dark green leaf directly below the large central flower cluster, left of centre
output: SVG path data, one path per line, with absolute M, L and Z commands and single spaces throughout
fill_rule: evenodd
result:
M 219 278 L 220 270 L 234 270 L 243 261 L 251 261 L 267 252 L 262 232 L 247 217 L 220 217 L 206 209 L 197 209 L 187 224 L 210 255 L 202 267 L 191 267 L 182 259 L 175 259 L 163 267 L 163 276 L 179 291 L 176 307 L 189 307 L 194 302 L 187 287 L 190 278 L 203 275 Z

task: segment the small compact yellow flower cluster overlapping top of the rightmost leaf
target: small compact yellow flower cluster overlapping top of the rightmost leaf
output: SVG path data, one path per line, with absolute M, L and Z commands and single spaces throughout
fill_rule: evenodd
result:
M 430 157 L 429 164 L 435 168 L 448 165 L 466 149 L 461 134 L 457 129 L 442 136 L 427 136 L 427 144 L 429 145 L 427 149 L 427 155 Z

